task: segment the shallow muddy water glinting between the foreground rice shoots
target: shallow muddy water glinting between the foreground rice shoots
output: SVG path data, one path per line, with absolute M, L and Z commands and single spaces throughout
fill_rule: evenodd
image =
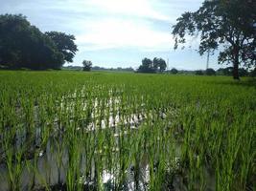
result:
M 68 110 L 69 112 L 73 112 L 75 102 L 74 99 L 76 98 L 76 95 L 74 94 L 72 98 L 68 98 L 68 105 L 64 106 L 64 99 L 65 97 L 62 97 L 62 101 L 60 102 L 60 108 Z M 108 101 L 108 107 L 111 104 L 119 104 L 120 100 L 115 98 L 110 98 Z M 142 104 L 143 105 L 143 104 Z M 65 108 L 64 108 L 65 107 Z M 94 101 L 93 108 L 94 110 L 97 110 L 98 102 L 97 98 Z M 81 108 L 83 108 L 83 111 L 86 110 L 86 104 L 81 104 Z M 38 106 L 35 106 L 34 113 L 35 113 L 35 123 L 37 122 L 36 119 L 38 117 Z M 119 176 L 118 174 L 121 173 L 120 165 L 119 165 L 119 155 L 120 150 L 122 150 L 122 145 L 120 145 L 120 138 L 132 138 L 132 135 L 137 134 L 139 131 L 140 126 L 143 124 L 143 122 L 148 118 L 151 118 L 153 114 L 131 114 L 129 116 L 123 116 L 121 119 L 120 112 L 118 108 L 116 109 L 116 115 L 113 116 L 112 110 L 110 110 L 108 120 L 102 119 L 101 121 L 99 119 L 93 120 L 93 118 L 96 118 L 96 116 L 99 116 L 97 112 L 91 111 L 91 119 L 93 121 L 89 122 L 87 126 L 82 126 L 82 122 L 84 122 L 84 119 L 80 119 L 81 124 L 75 129 L 75 131 L 78 134 L 87 134 L 85 137 L 88 137 L 88 134 L 91 134 L 91 137 L 94 137 L 95 134 L 97 134 L 97 131 L 101 131 L 102 134 L 107 134 L 107 136 L 112 138 L 112 145 L 104 144 L 100 149 L 93 148 L 92 150 L 92 157 L 89 162 L 89 167 L 86 166 L 88 162 L 86 160 L 88 159 L 88 154 L 86 152 L 85 148 L 82 148 L 82 139 L 79 143 L 80 149 L 80 161 L 79 161 L 79 168 L 80 169 L 86 169 L 85 171 L 88 173 L 87 177 L 84 175 L 85 173 L 81 170 L 80 174 L 81 176 L 77 179 L 78 183 L 81 184 L 81 189 L 96 189 L 96 162 L 94 159 L 94 155 L 104 155 L 107 154 L 104 150 L 107 150 L 107 152 L 110 155 L 111 160 L 116 159 L 116 161 L 113 161 L 111 165 L 111 168 L 107 168 L 108 164 L 104 164 L 102 167 L 102 171 L 98 172 L 101 174 L 101 180 L 103 182 L 103 188 L 112 190 L 116 186 L 116 177 Z M 21 112 L 17 110 L 17 112 Z M 169 111 L 166 111 L 167 113 Z M 172 113 L 175 115 L 175 111 L 172 111 Z M 95 116 L 94 116 L 95 115 Z M 166 113 L 159 112 L 159 117 L 163 120 L 166 117 Z M 124 119 L 125 118 L 125 119 Z M 70 119 L 72 121 L 73 119 Z M 107 124 L 106 124 L 107 123 Z M 121 127 L 122 126 L 122 127 Z M 107 128 L 107 129 L 106 129 Z M 21 158 L 21 172 L 19 177 L 19 188 L 21 190 L 41 190 L 45 185 L 50 186 L 52 189 L 55 187 L 57 189 L 66 189 L 66 175 L 67 175 L 67 166 L 69 164 L 69 147 L 65 144 L 68 144 L 69 142 L 65 142 L 63 137 L 65 137 L 65 134 L 68 133 L 66 130 L 63 130 L 64 127 L 60 127 L 58 125 L 58 118 L 55 120 L 55 125 L 53 127 L 53 132 L 49 137 L 47 138 L 45 142 L 45 146 L 42 146 L 42 128 L 35 128 L 35 137 L 32 141 L 29 138 L 26 138 L 27 132 L 25 129 L 20 132 L 16 132 L 16 139 L 14 147 L 22 147 L 23 144 L 27 144 L 28 141 L 30 141 L 28 144 L 31 144 L 30 146 L 32 149 L 28 149 L 27 151 L 24 151 L 24 153 L 27 153 L 27 155 L 24 155 L 24 158 Z M 107 133 L 106 133 L 107 131 Z M 109 138 L 108 137 L 108 138 Z M 94 141 L 97 139 L 94 138 Z M 159 138 L 157 138 L 159 139 Z M 71 140 L 72 141 L 72 140 Z M 15 148 L 9 148 L 9 149 L 15 149 Z M 61 147 L 61 148 L 59 148 Z M 61 149 L 61 151 L 59 151 Z M 132 149 L 132 148 L 130 148 Z M 158 145 L 158 149 L 161 148 L 161 145 Z M 178 145 L 175 145 L 175 152 L 174 152 L 174 168 L 178 168 L 178 159 L 179 159 L 179 149 Z M 4 152 L 5 153 L 5 152 Z M 136 173 L 138 173 L 138 179 L 137 183 L 138 185 L 135 185 L 135 167 L 134 162 L 130 159 L 128 159 L 128 164 L 126 166 L 124 173 L 124 180 L 122 180 L 122 190 L 148 190 L 149 189 L 149 182 L 150 182 L 150 164 L 149 159 L 147 157 L 147 152 L 141 151 L 140 154 L 142 157 L 139 159 L 139 167 Z M 131 156 L 128 156 L 130 158 Z M 6 159 L 7 156 L 2 156 L 2 163 L 0 165 L 0 190 L 10 190 L 10 180 L 8 180 L 9 177 L 9 168 L 7 165 L 3 164 L 4 159 Z M 61 163 L 61 164 L 60 164 Z M 15 161 L 13 161 L 13 164 L 15 165 Z M 33 165 L 35 165 L 33 167 Z M 15 167 L 14 167 L 15 168 Z M 35 169 L 33 169 L 35 168 Z M 153 168 L 155 170 L 156 164 L 153 164 Z M 36 172 L 35 172 L 36 171 Z M 120 186 L 120 185 L 119 185 Z M 136 187 L 137 186 L 137 187 Z M 177 189 L 176 189 L 177 190 Z

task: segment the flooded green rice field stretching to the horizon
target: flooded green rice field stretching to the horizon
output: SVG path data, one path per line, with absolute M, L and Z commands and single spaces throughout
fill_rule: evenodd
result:
M 256 190 L 256 83 L 0 72 L 0 190 Z

